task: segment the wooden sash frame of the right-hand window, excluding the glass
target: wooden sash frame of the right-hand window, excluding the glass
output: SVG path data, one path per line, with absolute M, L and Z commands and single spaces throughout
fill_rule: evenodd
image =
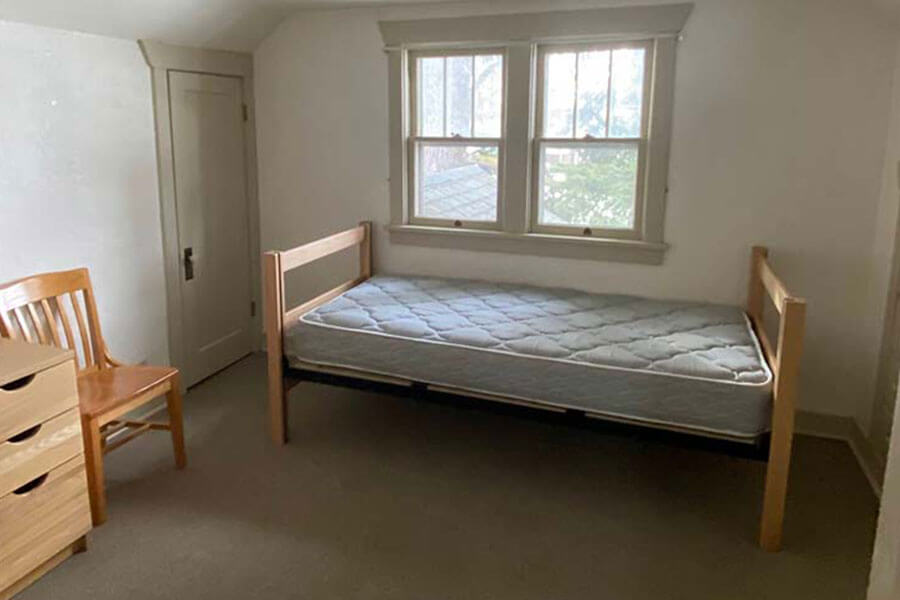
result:
M 646 171 L 647 171 L 647 147 L 649 142 L 649 120 L 650 105 L 653 102 L 653 40 L 645 37 L 636 37 L 634 39 L 622 40 L 596 40 L 578 43 L 571 42 L 548 42 L 536 44 L 534 88 L 536 101 L 533 109 L 534 119 L 534 135 L 531 140 L 531 190 L 529 202 L 529 230 L 535 233 L 544 233 L 549 235 L 566 235 L 566 236 L 584 236 L 603 239 L 626 239 L 640 240 L 643 232 L 643 218 L 645 212 L 645 190 L 646 190 Z M 644 50 L 644 77 L 641 90 L 641 123 L 638 137 L 594 137 L 584 136 L 575 137 L 577 131 L 574 123 L 577 123 L 577 106 L 578 106 L 578 67 L 576 58 L 575 71 L 575 98 L 573 105 L 573 128 L 572 137 L 545 137 L 544 132 L 544 108 L 546 103 L 545 97 L 545 81 L 546 81 L 546 58 L 548 54 L 557 54 L 565 52 L 577 53 L 591 50 L 618 50 L 622 48 L 641 48 Z M 612 73 L 610 73 L 611 81 Z M 607 120 L 610 114 L 610 105 L 612 103 L 612 85 L 607 87 Z M 609 129 L 609 123 L 606 124 Z M 540 221 L 541 199 L 543 195 L 543 161 L 542 150 L 545 147 L 590 147 L 602 146 L 604 144 L 631 144 L 637 146 L 637 172 L 635 173 L 635 193 L 634 193 L 634 220 L 631 228 L 602 228 L 589 225 L 545 225 Z

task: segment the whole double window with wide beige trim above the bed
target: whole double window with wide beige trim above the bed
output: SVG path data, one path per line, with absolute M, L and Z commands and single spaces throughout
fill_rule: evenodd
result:
M 661 263 L 676 40 L 691 10 L 380 22 L 391 241 Z

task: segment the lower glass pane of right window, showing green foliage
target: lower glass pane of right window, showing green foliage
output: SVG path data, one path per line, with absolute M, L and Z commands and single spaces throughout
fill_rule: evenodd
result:
M 637 143 L 544 144 L 538 221 L 631 229 L 637 162 Z

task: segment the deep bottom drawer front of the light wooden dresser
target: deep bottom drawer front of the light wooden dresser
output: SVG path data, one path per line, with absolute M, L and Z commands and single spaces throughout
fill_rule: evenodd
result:
M 46 473 L 30 490 L 0 498 L 0 590 L 91 528 L 84 458 Z

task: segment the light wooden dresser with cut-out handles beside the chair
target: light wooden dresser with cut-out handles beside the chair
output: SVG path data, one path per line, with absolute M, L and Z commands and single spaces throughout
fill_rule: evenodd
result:
M 0 600 L 86 549 L 74 354 L 0 338 Z

